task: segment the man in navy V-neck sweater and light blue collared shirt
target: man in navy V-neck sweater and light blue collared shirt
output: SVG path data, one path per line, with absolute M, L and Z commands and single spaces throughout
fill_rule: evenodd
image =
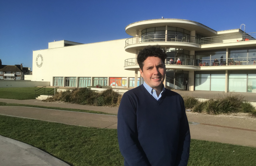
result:
M 118 143 L 125 166 L 186 166 L 190 132 L 182 97 L 164 88 L 167 55 L 159 46 L 139 52 L 144 83 L 124 93 Z

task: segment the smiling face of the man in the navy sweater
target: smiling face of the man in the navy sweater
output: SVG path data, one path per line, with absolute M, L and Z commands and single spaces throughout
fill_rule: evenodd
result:
M 166 69 L 159 57 L 147 57 L 144 61 L 143 71 L 139 70 L 147 85 L 153 89 L 162 89 Z

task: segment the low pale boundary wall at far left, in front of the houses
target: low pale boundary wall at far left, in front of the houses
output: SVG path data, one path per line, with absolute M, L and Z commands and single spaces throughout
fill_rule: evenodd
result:
M 46 81 L 26 81 L 26 80 L 0 80 L 0 88 L 17 88 L 17 87 L 36 87 L 50 86 L 50 82 Z

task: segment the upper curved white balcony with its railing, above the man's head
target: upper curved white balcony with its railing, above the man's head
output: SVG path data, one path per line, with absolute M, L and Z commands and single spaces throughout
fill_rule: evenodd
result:
M 152 34 L 128 38 L 125 41 L 125 50 L 129 53 L 136 53 L 136 50 L 143 49 L 148 45 L 161 45 L 168 48 L 180 48 L 195 50 L 200 48 L 200 38 L 189 35 L 178 34 Z

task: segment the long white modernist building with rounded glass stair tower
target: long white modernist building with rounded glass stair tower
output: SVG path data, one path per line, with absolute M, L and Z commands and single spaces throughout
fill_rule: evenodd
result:
M 215 31 L 182 19 L 134 22 L 125 30 L 133 37 L 90 44 L 54 41 L 48 49 L 33 51 L 32 81 L 136 87 L 143 82 L 139 50 L 161 45 L 168 56 L 166 88 L 256 93 L 256 32 Z

